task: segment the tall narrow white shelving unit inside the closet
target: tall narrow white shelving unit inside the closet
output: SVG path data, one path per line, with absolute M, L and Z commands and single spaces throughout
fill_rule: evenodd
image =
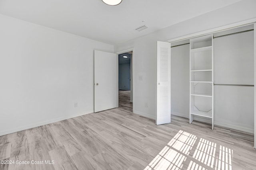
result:
M 208 117 L 214 128 L 213 35 L 190 39 L 190 123 Z

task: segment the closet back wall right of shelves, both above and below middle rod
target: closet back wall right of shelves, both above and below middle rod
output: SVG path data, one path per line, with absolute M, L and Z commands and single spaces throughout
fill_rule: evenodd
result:
M 214 39 L 215 84 L 254 84 L 253 31 Z M 214 86 L 215 124 L 254 132 L 254 87 Z

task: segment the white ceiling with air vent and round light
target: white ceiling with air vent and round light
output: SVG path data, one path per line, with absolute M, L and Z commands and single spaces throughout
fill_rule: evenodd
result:
M 112 45 L 240 0 L 0 0 L 0 14 Z M 144 21 L 144 22 L 142 22 Z M 136 27 L 147 25 L 140 32 Z

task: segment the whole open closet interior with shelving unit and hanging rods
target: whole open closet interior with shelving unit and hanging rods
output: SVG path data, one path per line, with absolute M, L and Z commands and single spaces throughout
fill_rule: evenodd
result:
M 209 36 L 171 42 L 171 114 L 254 133 L 254 24 Z

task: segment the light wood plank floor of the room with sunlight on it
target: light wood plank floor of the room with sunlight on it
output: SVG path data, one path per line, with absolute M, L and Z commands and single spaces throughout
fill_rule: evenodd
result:
M 0 137 L 0 170 L 256 169 L 253 135 L 172 116 L 155 125 L 120 106 Z M 44 162 L 45 163 L 45 162 Z

